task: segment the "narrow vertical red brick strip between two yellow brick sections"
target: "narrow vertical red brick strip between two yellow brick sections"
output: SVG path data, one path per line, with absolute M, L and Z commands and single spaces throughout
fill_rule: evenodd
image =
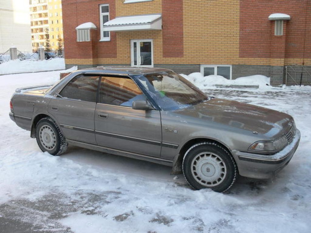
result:
M 162 0 L 163 57 L 183 57 L 183 0 Z

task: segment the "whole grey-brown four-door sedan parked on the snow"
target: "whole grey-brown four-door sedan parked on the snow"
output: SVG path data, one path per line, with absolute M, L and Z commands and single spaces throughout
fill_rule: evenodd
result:
M 217 192 L 238 174 L 272 177 L 300 140 L 290 115 L 207 96 L 161 68 L 74 71 L 53 86 L 17 89 L 10 107 L 42 151 L 60 155 L 72 144 L 156 162 Z

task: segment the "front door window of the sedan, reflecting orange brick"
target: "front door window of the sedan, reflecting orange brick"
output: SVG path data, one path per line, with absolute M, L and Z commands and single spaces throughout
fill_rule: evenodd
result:
M 143 99 L 144 94 L 130 78 L 101 77 L 99 103 L 132 107 L 134 100 Z

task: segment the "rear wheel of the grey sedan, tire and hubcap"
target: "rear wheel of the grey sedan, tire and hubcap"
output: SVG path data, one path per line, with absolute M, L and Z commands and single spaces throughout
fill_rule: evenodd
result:
M 51 117 L 42 118 L 36 125 L 36 139 L 39 148 L 51 155 L 66 152 L 68 144 L 63 133 Z

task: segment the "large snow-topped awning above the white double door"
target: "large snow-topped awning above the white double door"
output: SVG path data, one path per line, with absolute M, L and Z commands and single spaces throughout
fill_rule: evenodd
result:
M 117 17 L 104 23 L 104 31 L 161 30 L 162 16 L 136 15 Z

